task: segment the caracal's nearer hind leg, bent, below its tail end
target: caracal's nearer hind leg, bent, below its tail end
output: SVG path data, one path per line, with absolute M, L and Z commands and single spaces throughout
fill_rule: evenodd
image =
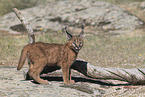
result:
M 37 60 L 33 67 L 29 69 L 29 75 L 34 79 L 34 81 L 40 84 L 49 84 L 47 80 L 43 80 L 40 78 L 40 73 L 43 70 L 44 66 L 47 64 L 45 58 Z

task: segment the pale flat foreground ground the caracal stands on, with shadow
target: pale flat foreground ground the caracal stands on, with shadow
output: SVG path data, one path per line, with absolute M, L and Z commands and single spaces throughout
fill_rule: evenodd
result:
M 23 71 L 26 70 L 27 67 L 17 71 L 16 66 L 0 66 L 0 97 L 145 97 L 145 86 L 87 79 L 76 76 L 78 73 L 74 71 L 73 79 L 76 81 L 74 85 L 63 84 L 61 70 L 47 76 L 43 75 L 50 84 L 40 85 L 32 80 L 24 80 Z

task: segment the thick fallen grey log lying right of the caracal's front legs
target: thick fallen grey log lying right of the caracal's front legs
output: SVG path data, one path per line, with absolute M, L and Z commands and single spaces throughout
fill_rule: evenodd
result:
M 130 84 L 145 84 L 145 68 L 103 68 L 91 65 L 85 61 L 76 60 L 72 65 L 72 69 L 94 79 L 112 79 L 125 81 Z

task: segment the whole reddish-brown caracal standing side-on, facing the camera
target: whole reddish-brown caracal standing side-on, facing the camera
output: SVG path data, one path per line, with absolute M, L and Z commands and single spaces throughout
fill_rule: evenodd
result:
M 26 45 L 21 52 L 17 70 L 20 70 L 26 60 L 29 61 L 28 74 L 34 81 L 47 84 L 48 81 L 40 78 L 40 73 L 46 65 L 60 66 L 63 73 L 63 81 L 66 85 L 74 84 L 71 80 L 70 66 L 76 60 L 79 50 L 83 46 L 83 29 L 78 36 L 72 36 L 67 31 L 68 42 L 65 44 L 36 42 Z

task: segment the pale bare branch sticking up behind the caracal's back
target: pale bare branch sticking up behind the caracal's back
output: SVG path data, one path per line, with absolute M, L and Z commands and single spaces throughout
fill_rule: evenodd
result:
M 23 26 L 27 30 L 29 43 L 35 42 L 34 32 L 33 32 L 33 29 L 30 26 L 30 23 L 27 22 L 27 20 L 23 16 L 22 12 L 20 12 L 17 8 L 13 8 L 13 11 L 15 12 L 16 16 L 18 17 L 18 19 L 21 21 L 21 23 L 23 24 Z

